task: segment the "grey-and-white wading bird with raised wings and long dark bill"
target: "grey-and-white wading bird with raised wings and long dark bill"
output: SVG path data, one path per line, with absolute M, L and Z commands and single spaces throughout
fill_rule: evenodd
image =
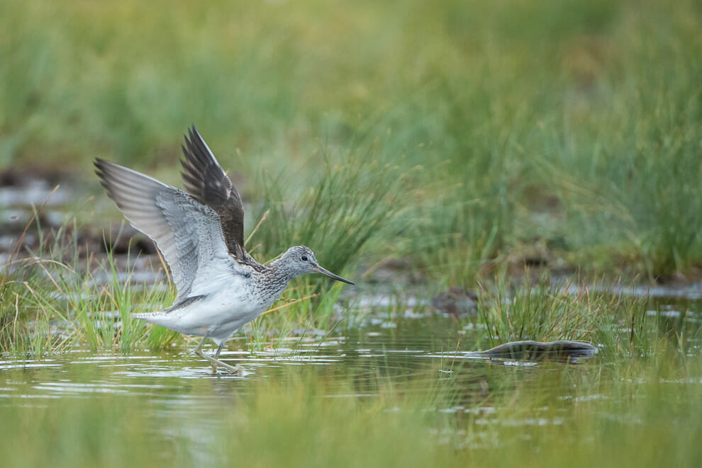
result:
M 320 266 L 307 246 L 293 246 L 269 263 L 258 263 L 244 246 L 241 196 L 194 125 L 182 152 L 185 190 L 104 159 L 94 161 L 108 197 L 155 242 L 177 288 L 170 307 L 132 316 L 201 336 L 194 352 L 209 361 L 213 374 L 217 367 L 239 373 L 242 367 L 219 360 L 224 343 L 271 307 L 290 280 L 321 273 L 355 283 Z M 202 351 L 207 339 L 218 346 L 213 356 Z

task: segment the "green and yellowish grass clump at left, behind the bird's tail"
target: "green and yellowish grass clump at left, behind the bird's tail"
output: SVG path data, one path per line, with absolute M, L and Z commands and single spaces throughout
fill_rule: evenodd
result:
M 72 242 L 76 241 L 73 236 Z M 16 270 L 0 278 L 4 350 L 37 357 L 74 346 L 127 352 L 146 343 L 152 348 L 166 346 L 178 336 L 158 329 L 148 333 L 143 322 L 131 318 L 133 312 L 163 307 L 171 293 L 130 282 L 129 263 L 125 280 L 118 277 L 112 256 L 98 261 L 81 258 L 72 243 L 40 246 L 34 253 L 16 260 Z

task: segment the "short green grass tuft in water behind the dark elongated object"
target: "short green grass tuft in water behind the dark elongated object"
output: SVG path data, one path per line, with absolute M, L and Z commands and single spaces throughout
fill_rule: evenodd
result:
M 502 275 L 496 278 L 496 287 L 481 292 L 477 316 L 470 320 L 484 327 L 481 340 L 487 342 L 481 348 L 522 340 L 586 341 L 603 346 L 601 352 L 613 359 L 658 354 L 667 343 L 679 344 L 678 337 L 669 336 L 661 326 L 660 316 L 647 314 L 651 310 L 647 298 L 614 295 L 610 288 L 605 281 L 553 284 L 549 275 L 542 275 L 535 285 L 528 277 L 511 285 Z M 695 333 L 696 327 L 685 330 L 683 325 L 674 329 Z M 683 347 L 681 353 L 685 352 Z

